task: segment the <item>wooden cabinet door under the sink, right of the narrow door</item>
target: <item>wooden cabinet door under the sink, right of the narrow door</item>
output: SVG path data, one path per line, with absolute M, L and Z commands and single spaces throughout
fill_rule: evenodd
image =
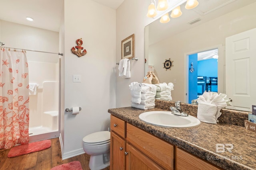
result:
M 130 144 L 126 144 L 126 170 L 164 170 Z

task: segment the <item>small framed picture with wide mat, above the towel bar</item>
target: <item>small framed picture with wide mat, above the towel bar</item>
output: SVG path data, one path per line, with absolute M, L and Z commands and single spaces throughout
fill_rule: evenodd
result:
M 122 59 L 134 58 L 134 34 L 122 40 Z

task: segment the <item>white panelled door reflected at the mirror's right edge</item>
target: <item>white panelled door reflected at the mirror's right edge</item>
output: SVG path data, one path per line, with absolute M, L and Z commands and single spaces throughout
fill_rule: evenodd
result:
M 226 38 L 226 94 L 234 109 L 256 105 L 256 28 Z

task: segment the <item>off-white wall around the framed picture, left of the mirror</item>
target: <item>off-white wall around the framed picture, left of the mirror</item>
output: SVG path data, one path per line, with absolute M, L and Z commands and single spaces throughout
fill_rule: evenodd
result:
M 135 57 L 138 61 L 131 61 L 131 78 L 119 78 L 118 66 L 116 66 L 116 107 L 131 106 L 129 84 L 142 82 L 145 76 L 144 57 L 144 28 L 154 21 L 146 16 L 147 0 L 124 0 L 116 10 L 116 62 L 121 60 L 121 41 L 134 33 Z

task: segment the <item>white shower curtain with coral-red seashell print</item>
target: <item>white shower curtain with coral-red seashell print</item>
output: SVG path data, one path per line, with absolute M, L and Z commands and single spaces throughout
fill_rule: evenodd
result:
M 0 149 L 28 143 L 28 62 L 25 51 L 0 50 Z

